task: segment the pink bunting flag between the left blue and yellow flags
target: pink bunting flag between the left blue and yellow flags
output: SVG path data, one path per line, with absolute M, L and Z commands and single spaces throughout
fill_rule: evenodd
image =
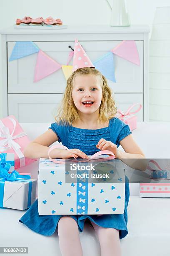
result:
M 34 82 L 40 81 L 42 78 L 49 76 L 60 68 L 61 65 L 59 63 L 40 50 L 37 54 Z

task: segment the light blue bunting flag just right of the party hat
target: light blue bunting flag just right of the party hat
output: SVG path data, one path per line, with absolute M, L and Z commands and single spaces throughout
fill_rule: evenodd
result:
M 100 59 L 97 59 L 93 64 L 95 68 L 98 69 L 107 79 L 112 82 L 116 82 L 115 64 L 112 52 L 108 52 L 101 56 Z

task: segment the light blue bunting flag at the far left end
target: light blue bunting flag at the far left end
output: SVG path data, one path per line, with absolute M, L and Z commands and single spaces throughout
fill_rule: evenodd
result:
M 16 42 L 9 61 L 20 59 L 38 52 L 40 49 L 33 42 Z

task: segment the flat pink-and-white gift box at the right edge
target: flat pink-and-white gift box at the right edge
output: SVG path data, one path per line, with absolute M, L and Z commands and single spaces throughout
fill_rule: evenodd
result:
M 140 197 L 170 197 L 170 183 L 140 183 Z

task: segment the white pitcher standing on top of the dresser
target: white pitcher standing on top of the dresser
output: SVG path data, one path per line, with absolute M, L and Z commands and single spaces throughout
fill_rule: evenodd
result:
M 112 10 L 110 26 L 115 27 L 125 27 L 130 26 L 130 17 L 128 13 L 128 8 L 126 5 L 126 0 L 113 0 L 112 7 L 109 3 Z

